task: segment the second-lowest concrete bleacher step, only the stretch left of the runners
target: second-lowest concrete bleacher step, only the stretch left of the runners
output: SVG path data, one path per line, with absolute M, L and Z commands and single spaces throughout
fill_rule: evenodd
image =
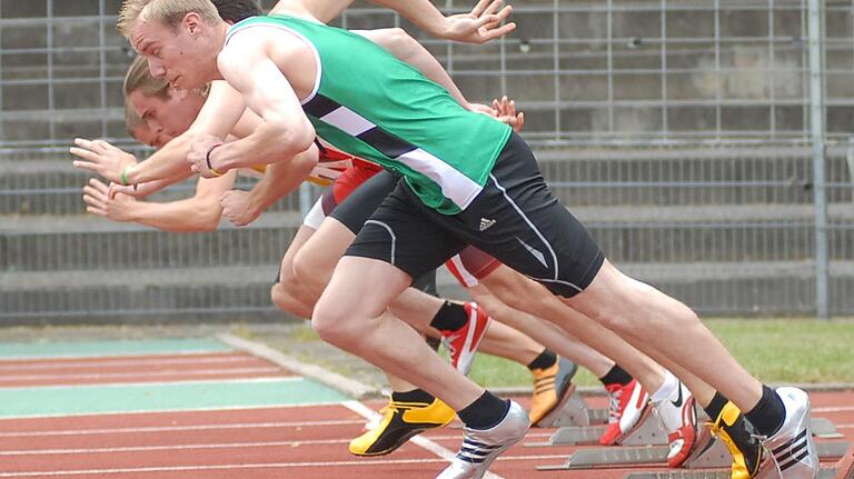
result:
M 299 213 L 268 213 L 246 228 L 176 234 L 93 216 L 12 217 L 0 222 L 0 265 L 10 272 L 127 270 L 278 263 Z

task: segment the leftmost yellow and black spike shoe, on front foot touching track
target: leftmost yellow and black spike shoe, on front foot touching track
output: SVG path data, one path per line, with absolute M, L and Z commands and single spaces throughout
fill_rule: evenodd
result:
M 350 441 L 351 455 L 383 456 L 394 452 L 411 437 L 427 429 L 447 426 L 457 416 L 439 399 L 433 402 L 390 401 L 380 412 L 383 419 L 376 429 Z

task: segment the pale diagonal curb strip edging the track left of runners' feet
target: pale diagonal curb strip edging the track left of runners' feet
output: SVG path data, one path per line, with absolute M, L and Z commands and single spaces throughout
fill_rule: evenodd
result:
M 262 342 L 238 338 L 237 336 L 227 332 L 217 335 L 217 339 L 237 350 L 264 358 L 272 363 L 281 366 L 289 371 L 296 372 L 297 375 L 314 379 L 315 381 L 337 389 L 338 391 L 341 391 L 351 398 L 365 399 L 380 395 L 379 390 L 376 388 L 367 386 L 355 379 L 345 378 L 337 372 L 329 371 L 328 369 L 324 369 L 319 366 L 309 365 L 298 359 L 291 358 L 290 356 L 287 356 L 281 351 L 277 351 Z

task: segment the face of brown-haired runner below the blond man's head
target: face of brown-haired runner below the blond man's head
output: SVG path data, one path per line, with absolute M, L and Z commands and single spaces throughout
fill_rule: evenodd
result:
M 168 98 L 133 91 L 128 97 L 139 118 L 157 134 L 177 137 L 196 120 L 205 99 L 195 91 L 170 88 Z

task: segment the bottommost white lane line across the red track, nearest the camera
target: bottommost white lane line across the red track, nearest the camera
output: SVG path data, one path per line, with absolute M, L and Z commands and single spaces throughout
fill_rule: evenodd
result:
M 547 456 L 499 456 L 497 461 L 527 461 L 534 459 L 566 459 L 566 455 Z M 309 467 L 376 467 L 391 465 L 417 465 L 446 462 L 441 458 L 430 459 L 371 459 L 371 460 L 351 460 L 351 461 L 315 461 L 315 462 L 259 462 L 246 465 L 217 465 L 217 466 L 163 466 L 147 468 L 121 468 L 121 469 L 82 469 L 66 471 L 21 471 L 21 472 L 0 472 L 0 478 L 19 477 L 59 477 L 59 476 L 83 476 L 83 475 L 139 475 L 145 472 L 185 472 L 185 471 L 205 471 L 205 470 L 240 470 L 240 469 L 296 469 Z M 500 476 L 487 472 L 486 478 L 500 478 Z

